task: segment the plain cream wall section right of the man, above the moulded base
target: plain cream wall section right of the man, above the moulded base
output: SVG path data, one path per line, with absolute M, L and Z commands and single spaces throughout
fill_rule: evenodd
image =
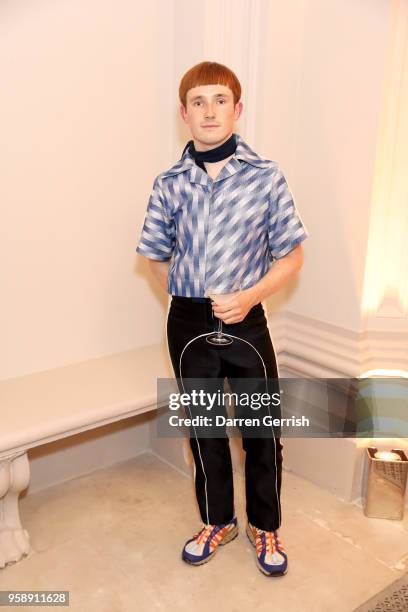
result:
M 287 306 L 359 330 L 389 3 L 270 6 L 262 148 L 310 231 Z

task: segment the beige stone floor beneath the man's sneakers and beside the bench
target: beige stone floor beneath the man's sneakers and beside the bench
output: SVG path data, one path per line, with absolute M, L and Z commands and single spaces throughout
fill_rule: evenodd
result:
M 289 570 L 268 578 L 245 535 L 239 474 L 235 496 L 238 538 L 193 567 L 180 558 L 201 526 L 193 482 L 154 455 L 30 495 L 21 511 L 32 550 L 0 570 L 0 590 L 69 590 L 75 612 L 351 612 L 408 569 L 408 518 L 368 519 L 284 472 Z

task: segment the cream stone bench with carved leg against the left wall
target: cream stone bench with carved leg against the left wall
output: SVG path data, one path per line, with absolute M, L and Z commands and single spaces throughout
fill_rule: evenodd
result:
M 157 379 L 173 377 L 167 348 L 151 345 L 0 382 L 0 568 L 30 549 L 28 449 L 155 410 Z

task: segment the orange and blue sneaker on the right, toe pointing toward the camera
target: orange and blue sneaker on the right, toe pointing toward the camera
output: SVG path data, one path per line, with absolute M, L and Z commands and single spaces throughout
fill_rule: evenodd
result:
M 256 548 L 257 565 L 266 576 L 283 576 L 287 572 L 288 557 L 278 536 L 278 530 L 263 531 L 248 522 L 247 536 Z

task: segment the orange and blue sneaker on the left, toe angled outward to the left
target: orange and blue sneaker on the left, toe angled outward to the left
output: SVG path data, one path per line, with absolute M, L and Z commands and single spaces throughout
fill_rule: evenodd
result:
M 204 525 L 185 543 L 181 558 L 192 565 L 206 563 L 215 555 L 218 545 L 223 546 L 227 542 L 231 542 L 237 535 L 238 523 L 236 517 L 229 523 Z

